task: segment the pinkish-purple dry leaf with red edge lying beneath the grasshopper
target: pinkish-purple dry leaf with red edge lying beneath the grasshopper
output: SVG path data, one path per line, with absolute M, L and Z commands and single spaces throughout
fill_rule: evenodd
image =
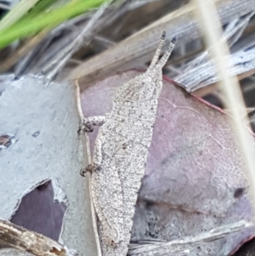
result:
M 86 89 L 84 115 L 110 112 L 115 89 L 139 74 L 129 71 Z M 90 134 L 92 147 L 96 133 Z M 165 79 L 132 239 L 171 241 L 250 220 L 242 166 L 230 117 Z M 237 232 L 193 248 L 190 255 L 228 255 L 254 233 L 254 229 Z

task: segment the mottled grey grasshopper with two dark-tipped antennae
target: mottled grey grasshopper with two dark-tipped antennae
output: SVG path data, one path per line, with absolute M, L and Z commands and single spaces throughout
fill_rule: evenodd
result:
M 163 86 L 162 68 L 176 41 L 171 41 L 159 59 L 164 38 L 165 33 L 147 72 L 117 89 L 112 112 L 106 116 L 96 139 L 92 197 L 104 256 L 128 253 L 136 199 Z

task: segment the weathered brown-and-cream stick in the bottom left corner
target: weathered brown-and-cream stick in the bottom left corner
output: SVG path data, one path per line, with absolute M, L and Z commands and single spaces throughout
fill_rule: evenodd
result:
M 0 220 L 0 243 L 37 256 L 71 256 L 66 246 L 6 220 Z

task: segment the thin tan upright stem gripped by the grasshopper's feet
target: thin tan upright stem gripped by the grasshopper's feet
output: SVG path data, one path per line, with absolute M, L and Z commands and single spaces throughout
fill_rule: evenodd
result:
M 80 102 L 80 86 L 78 83 L 78 80 L 75 80 L 75 89 L 76 89 L 76 98 L 77 98 L 77 110 L 78 114 L 80 116 L 80 121 L 82 122 L 84 120 L 84 114 L 82 112 L 82 104 Z M 88 163 L 91 164 L 91 149 L 89 146 L 89 135 L 87 135 L 84 130 L 80 131 L 80 137 L 82 140 L 82 149 L 84 156 L 87 153 L 87 158 L 88 158 Z M 85 150 L 86 149 L 86 150 Z M 95 240 L 96 240 L 96 248 L 98 251 L 98 256 L 102 256 L 101 254 L 101 247 L 100 247 L 100 242 L 99 242 L 99 236 L 98 236 L 98 225 L 97 225 L 97 220 L 96 220 L 96 211 L 94 209 L 94 204 L 93 204 L 93 199 L 92 199 L 92 194 L 91 194 L 91 172 L 87 172 L 87 178 L 89 179 L 89 197 L 90 197 L 90 202 L 91 202 L 91 218 L 92 218 L 92 227 L 94 230 L 94 235 L 95 235 Z

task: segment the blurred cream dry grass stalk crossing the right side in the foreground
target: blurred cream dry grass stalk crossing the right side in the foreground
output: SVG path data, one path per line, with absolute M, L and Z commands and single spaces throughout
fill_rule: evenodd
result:
M 254 138 L 247 129 L 245 123 L 242 122 L 242 117 L 247 116 L 245 111 L 245 103 L 242 98 L 240 86 L 238 84 L 237 77 L 230 77 L 228 70 L 230 70 L 230 59 L 227 59 L 230 52 L 226 41 L 221 41 L 221 23 L 217 10 L 212 0 L 193 0 L 196 5 L 197 13 L 201 20 L 201 28 L 205 34 L 207 44 L 212 49 L 212 56 L 215 58 L 215 69 L 221 78 L 219 84 L 224 93 L 226 99 L 226 106 L 231 110 L 231 116 L 233 117 L 233 130 L 237 135 L 238 144 L 240 144 L 240 150 L 242 158 L 244 160 L 244 170 L 247 178 L 249 179 L 249 192 L 251 193 L 252 207 L 255 211 L 255 172 L 254 172 L 254 154 L 252 154 Z M 221 44 L 219 44 L 221 42 Z M 222 56 L 224 61 L 222 61 Z M 241 107 L 235 107 L 236 103 L 239 103 Z

